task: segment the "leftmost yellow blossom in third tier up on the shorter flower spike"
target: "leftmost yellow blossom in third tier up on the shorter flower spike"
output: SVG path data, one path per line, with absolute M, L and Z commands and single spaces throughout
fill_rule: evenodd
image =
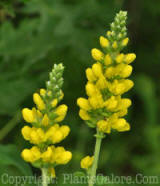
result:
M 34 117 L 34 114 L 33 114 L 32 110 L 30 110 L 28 108 L 24 108 L 22 110 L 22 115 L 23 115 L 24 120 L 27 123 L 33 123 L 33 122 L 36 121 L 36 118 Z

